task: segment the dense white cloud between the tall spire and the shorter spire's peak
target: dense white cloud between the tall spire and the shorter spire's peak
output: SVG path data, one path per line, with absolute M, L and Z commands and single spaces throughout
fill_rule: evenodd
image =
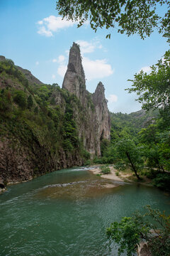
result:
M 82 62 L 87 80 L 106 78 L 114 72 L 111 65 L 108 64 L 105 59 L 90 60 L 89 58 L 84 57 Z

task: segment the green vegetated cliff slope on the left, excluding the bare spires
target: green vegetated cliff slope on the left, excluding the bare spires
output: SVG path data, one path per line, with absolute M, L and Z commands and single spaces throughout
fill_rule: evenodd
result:
M 78 136 L 75 108 L 81 112 L 67 90 L 31 84 L 12 60 L 0 62 L 2 180 L 27 180 L 85 163 L 90 155 Z

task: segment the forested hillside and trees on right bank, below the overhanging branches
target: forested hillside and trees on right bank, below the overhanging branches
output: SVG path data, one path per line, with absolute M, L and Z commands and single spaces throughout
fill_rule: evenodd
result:
M 99 164 L 131 169 L 137 178 L 147 176 L 154 185 L 169 190 L 170 131 L 158 110 L 131 114 L 111 113 L 111 142 L 103 140 Z

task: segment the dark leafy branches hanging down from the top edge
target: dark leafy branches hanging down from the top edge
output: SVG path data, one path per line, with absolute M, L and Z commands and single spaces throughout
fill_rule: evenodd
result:
M 57 10 L 62 17 L 79 21 L 79 26 L 89 20 L 91 28 L 118 28 L 119 33 L 128 36 L 138 33 L 144 39 L 154 28 L 169 39 L 169 1 L 163 0 L 58 0 Z M 158 4 L 164 5 L 166 13 L 159 15 Z M 111 34 L 106 37 L 110 38 Z

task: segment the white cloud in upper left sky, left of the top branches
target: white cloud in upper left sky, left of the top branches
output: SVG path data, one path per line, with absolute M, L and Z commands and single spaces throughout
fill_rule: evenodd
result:
M 63 28 L 69 28 L 77 24 L 78 21 L 67 21 L 66 18 L 60 16 L 56 17 L 50 15 L 49 17 L 43 18 L 41 21 L 37 22 L 40 25 L 38 33 L 42 36 L 53 36 L 53 32 L 59 31 Z

